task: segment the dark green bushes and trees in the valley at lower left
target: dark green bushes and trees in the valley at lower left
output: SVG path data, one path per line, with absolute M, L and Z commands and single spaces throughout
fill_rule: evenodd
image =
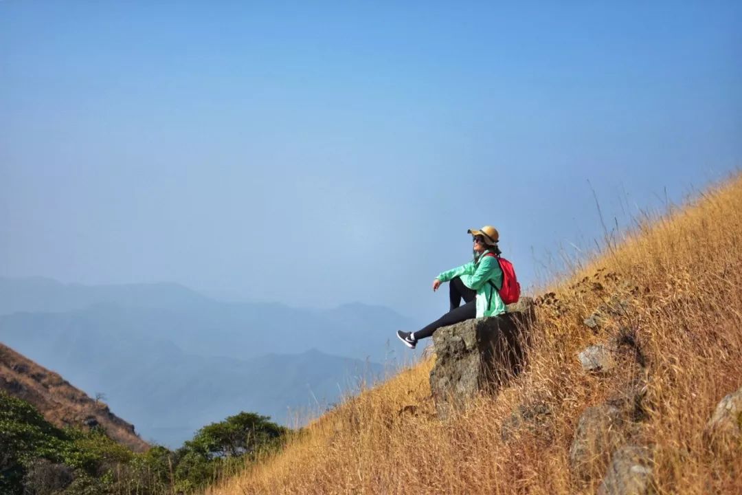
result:
M 100 428 L 57 428 L 27 401 L 0 391 L 0 494 L 190 493 L 280 448 L 288 431 L 243 412 L 201 428 L 174 452 L 154 446 L 134 453 Z

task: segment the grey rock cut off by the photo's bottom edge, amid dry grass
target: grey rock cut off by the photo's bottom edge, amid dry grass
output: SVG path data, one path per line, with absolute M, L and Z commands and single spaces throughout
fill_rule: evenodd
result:
M 598 495 L 648 495 L 652 493 L 653 462 L 651 450 L 624 445 L 614 452 Z

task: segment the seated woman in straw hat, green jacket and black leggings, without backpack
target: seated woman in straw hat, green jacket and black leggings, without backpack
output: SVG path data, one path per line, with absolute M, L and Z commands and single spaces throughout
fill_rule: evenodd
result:
M 495 316 L 505 312 L 505 303 L 499 295 L 502 287 L 502 269 L 497 262 L 499 234 L 493 226 L 481 230 L 469 229 L 473 235 L 474 259 L 465 265 L 442 272 L 433 281 L 433 291 L 443 282 L 449 283 L 450 311 L 417 332 L 397 331 L 398 338 L 414 349 L 421 338 L 430 337 L 440 327 L 453 325 L 470 318 Z M 494 256 L 487 256 L 492 253 Z M 464 306 L 461 304 L 464 299 Z

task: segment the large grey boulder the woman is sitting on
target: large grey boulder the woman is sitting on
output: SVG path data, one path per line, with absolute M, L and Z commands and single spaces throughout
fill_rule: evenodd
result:
M 533 300 L 521 298 L 509 312 L 441 327 L 433 333 L 436 364 L 430 391 L 439 418 L 465 407 L 479 392 L 496 393 L 522 369 Z

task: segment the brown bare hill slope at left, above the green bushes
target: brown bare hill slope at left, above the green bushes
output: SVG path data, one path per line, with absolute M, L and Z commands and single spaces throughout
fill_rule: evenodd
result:
M 112 439 L 135 452 L 149 448 L 134 433 L 134 426 L 111 413 L 107 405 L 4 344 L 0 344 L 0 390 L 30 402 L 57 427 L 85 429 L 99 425 Z

